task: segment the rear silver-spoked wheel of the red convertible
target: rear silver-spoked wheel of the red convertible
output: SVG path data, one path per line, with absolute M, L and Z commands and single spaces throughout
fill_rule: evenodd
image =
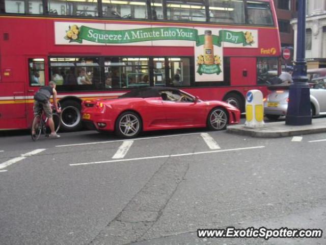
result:
M 123 138 L 133 138 L 142 131 L 142 119 L 132 111 L 123 112 L 117 119 L 115 132 Z

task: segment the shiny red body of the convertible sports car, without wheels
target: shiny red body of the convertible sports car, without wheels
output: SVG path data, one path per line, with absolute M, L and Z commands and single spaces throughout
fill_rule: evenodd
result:
M 151 88 L 148 88 L 151 89 Z M 157 90 L 157 87 L 152 88 Z M 162 90 L 180 91 L 175 88 Z M 155 97 L 120 97 L 119 99 L 98 99 L 82 104 L 83 121 L 98 131 L 115 131 L 116 121 L 126 111 L 137 113 L 142 121 L 142 131 L 202 128 L 207 126 L 207 118 L 213 108 L 220 107 L 227 111 L 228 124 L 237 124 L 240 111 L 221 101 L 200 101 L 193 95 L 193 101 L 165 101 Z

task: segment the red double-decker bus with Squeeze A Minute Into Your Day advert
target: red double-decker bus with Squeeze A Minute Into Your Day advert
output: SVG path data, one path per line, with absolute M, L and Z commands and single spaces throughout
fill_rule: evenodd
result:
M 0 129 L 29 128 L 33 95 L 51 80 L 73 131 L 83 100 L 144 86 L 243 110 L 279 69 L 271 0 L 5 0 L 0 11 Z

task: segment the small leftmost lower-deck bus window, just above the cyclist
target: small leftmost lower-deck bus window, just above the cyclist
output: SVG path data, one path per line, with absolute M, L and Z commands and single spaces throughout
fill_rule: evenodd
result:
M 29 59 L 29 73 L 31 86 L 44 86 L 44 59 L 35 58 Z

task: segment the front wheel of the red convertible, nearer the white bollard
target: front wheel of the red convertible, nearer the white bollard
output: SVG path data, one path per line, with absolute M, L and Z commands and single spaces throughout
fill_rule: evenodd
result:
M 207 127 L 210 130 L 224 130 L 228 125 L 228 121 L 228 112 L 221 107 L 216 107 L 208 115 Z

